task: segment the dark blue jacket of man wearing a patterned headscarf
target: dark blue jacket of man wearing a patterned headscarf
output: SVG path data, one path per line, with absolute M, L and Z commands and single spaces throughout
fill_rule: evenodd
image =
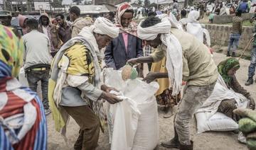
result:
M 122 33 L 114 38 L 105 50 L 105 63 L 107 67 L 120 69 L 127 60 L 143 57 L 142 40 L 134 35 L 128 35 L 127 50 L 125 49 Z

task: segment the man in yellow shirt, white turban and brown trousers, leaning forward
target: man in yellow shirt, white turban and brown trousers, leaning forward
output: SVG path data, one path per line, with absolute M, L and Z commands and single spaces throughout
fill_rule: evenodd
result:
M 114 88 L 100 81 L 100 49 L 117 37 L 119 28 L 105 18 L 65 43 L 53 59 L 48 98 L 55 129 L 65 135 L 69 115 L 80 126 L 74 149 L 95 149 L 104 125 L 102 98 L 109 103 L 120 100 L 109 93 Z

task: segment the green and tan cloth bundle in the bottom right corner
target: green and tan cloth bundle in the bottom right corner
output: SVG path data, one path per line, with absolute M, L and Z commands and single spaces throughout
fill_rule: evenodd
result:
M 249 149 L 256 149 L 256 111 L 238 108 L 234 113 L 243 117 L 239 120 L 239 130 L 246 137 Z

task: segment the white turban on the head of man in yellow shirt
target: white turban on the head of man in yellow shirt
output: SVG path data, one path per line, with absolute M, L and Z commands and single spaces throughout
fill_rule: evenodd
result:
M 94 27 L 93 32 L 101 35 L 109 35 L 112 38 L 118 37 L 119 35 L 119 28 L 117 28 L 111 21 L 103 17 L 97 18 L 92 27 Z

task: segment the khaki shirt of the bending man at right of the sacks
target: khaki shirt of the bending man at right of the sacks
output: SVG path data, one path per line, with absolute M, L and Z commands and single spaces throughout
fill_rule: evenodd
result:
M 171 33 L 178 39 L 182 47 L 183 80 L 188 85 L 207 86 L 218 79 L 218 69 L 206 45 L 193 35 L 171 28 Z M 166 54 L 166 46 L 160 45 L 151 57 L 159 62 Z

